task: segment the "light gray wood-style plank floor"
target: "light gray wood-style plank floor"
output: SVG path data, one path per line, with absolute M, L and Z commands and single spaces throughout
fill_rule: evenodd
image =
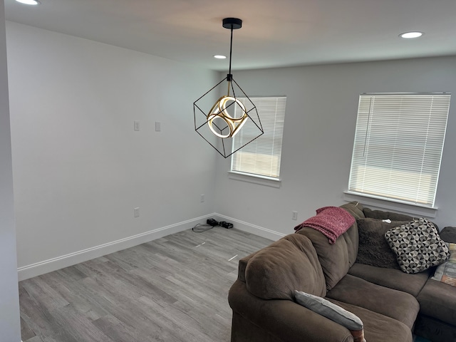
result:
M 228 342 L 238 261 L 268 244 L 189 229 L 21 281 L 22 340 Z

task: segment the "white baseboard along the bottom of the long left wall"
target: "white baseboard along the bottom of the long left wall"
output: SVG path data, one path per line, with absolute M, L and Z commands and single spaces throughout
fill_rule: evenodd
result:
M 32 278 L 33 276 L 39 276 L 51 271 L 63 269 L 64 267 L 79 264 L 83 261 L 103 257 L 103 255 L 118 252 L 122 249 L 138 246 L 138 244 L 144 244 L 145 242 L 160 239 L 160 237 L 182 232 L 183 230 L 194 227 L 197 223 L 205 223 L 207 218 L 214 217 L 215 215 L 217 214 L 209 214 L 204 217 L 189 219 L 187 221 L 171 224 L 166 227 L 152 229 L 149 232 L 137 234 L 132 237 L 126 237 L 125 239 L 108 242 L 107 244 L 101 244 L 100 246 L 90 247 L 79 252 L 73 252 L 61 257 L 39 261 L 36 264 L 22 266 L 18 269 L 18 278 L 19 281 L 25 280 Z

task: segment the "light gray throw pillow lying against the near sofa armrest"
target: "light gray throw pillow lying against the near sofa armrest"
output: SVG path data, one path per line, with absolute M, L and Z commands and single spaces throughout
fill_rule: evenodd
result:
M 350 331 L 363 329 L 361 318 L 350 311 L 346 311 L 341 306 L 331 303 L 331 301 L 297 290 L 294 291 L 294 298 L 298 304 L 341 324 L 341 326 L 345 326 Z

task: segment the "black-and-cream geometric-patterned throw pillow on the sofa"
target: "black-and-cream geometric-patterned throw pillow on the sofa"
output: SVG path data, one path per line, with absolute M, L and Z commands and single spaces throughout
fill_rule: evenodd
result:
M 385 239 L 405 273 L 424 271 L 450 257 L 447 244 L 440 239 L 437 228 L 424 218 L 388 230 Z

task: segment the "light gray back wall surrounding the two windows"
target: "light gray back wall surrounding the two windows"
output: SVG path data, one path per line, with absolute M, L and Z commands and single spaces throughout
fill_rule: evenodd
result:
M 360 93 L 449 91 L 453 98 L 433 221 L 440 228 L 456 226 L 455 66 L 456 57 L 448 57 L 234 71 L 248 95 L 287 95 L 282 182 L 276 189 L 231 180 L 229 160 L 219 159 L 217 212 L 264 236 L 294 232 L 315 209 L 345 202 Z M 297 221 L 291 219 L 294 210 Z

